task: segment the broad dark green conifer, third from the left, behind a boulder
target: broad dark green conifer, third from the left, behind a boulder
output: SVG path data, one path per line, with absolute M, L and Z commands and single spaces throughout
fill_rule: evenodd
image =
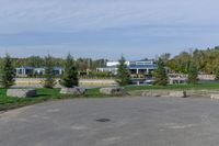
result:
M 65 63 L 65 71 L 61 77 L 60 85 L 66 88 L 73 88 L 79 86 L 78 69 L 73 57 L 68 54 Z

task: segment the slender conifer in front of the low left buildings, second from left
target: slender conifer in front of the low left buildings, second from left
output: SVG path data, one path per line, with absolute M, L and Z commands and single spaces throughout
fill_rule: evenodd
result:
M 50 55 L 45 57 L 45 80 L 44 88 L 54 88 L 56 85 L 55 75 L 54 75 L 54 65 L 53 58 Z

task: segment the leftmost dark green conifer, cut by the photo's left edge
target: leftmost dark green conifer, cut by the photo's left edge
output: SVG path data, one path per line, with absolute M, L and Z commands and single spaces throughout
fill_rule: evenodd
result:
M 12 65 L 12 59 L 9 54 L 5 55 L 2 61 L 0 71 L 0 83 L 3 88 L 10 88 L 15 82 L 15 72 Z

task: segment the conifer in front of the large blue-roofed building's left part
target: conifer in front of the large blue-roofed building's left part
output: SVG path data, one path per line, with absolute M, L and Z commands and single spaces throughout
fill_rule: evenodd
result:
M 130 83 L 130 75 L 127 66 L 125 65 L 126 59 L 122 56 L 119 59 L 118 70 L 116 75 L 116 81 L 119 86 L 127 86 Z

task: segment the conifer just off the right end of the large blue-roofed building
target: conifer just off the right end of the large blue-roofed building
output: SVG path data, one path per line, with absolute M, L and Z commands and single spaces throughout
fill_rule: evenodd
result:
M 165 65 L 161 58 L 159 58 L 158 68 L 153 71 L 154 85 L 166 86 L 168 85 L 168 75 L 165 70 Z

